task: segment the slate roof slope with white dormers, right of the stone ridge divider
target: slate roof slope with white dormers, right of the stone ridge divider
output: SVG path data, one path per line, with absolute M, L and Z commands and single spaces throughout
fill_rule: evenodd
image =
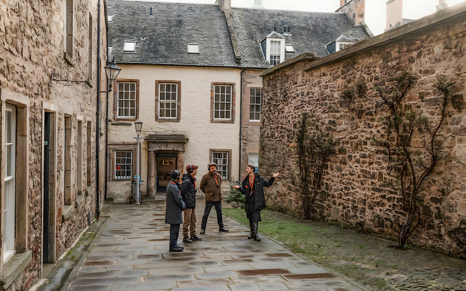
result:
M 261 52 L 260 41 L 267 37 L 274 27 L 281 34 L 285 25 L 290 27 L 291 36 L 284 36 L 286 44 L 293 45 L 295 53 L 285 53 L 285 60 L 302 53 L 315 53 L 316 56 L 323 57 L 329 54 L 325 46 L 342 34 L 354 41 L 369 37 L 363 27 L 355 27 L 344 13 L 240 7 L 232 7 L 231 11 L 241 65 L 250 68 L 270 68 Z

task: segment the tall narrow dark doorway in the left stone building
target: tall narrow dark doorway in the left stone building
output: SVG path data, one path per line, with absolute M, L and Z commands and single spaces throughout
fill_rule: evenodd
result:
M 50 113 L 44 112 L 44 169 L 42 174 L 44 176 L 44 207 L 43 207 L 43 227 L 42 227 L 42 261 L 48 263 L 49 261 L 49 210 L 50 210 L 50 197 L 49 197 L 49 175 L 50 175 Z

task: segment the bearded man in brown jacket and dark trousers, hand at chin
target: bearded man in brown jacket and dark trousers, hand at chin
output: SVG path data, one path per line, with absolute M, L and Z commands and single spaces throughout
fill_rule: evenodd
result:
M 199 189 L 206 194 L 206 209 L 204 210 L 204 216 L 202 217 L 201 232 L 200 234 L 206 233 L 207 218 L 209 217 L 212 206 L 215 207 L 217 212 L 217 223 L 219 224 L 219 231 L 227 232 L 223 226 L 222 218 L 222 177 L 217 173 L 217 164 L 211 162 L 207 165 L 209 172 L 202 177 Z

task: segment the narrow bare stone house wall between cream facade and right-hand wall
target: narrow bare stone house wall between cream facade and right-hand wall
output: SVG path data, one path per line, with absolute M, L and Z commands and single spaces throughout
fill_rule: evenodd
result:
M 261 88 L 262 70 L 247 69 L 243 72 L 243 106 L 241 110 L 241 169 L 238 180 L 246 176 L 246 165 L 249 162 L 248 153 L 259 153 L 260 122 L 249 121 L 249 91 L 250 88 Z

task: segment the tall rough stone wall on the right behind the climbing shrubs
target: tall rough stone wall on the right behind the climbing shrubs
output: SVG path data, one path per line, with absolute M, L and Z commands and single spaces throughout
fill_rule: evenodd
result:
M 417 80 L 408 91 L 405 108 L 417 105 L 413 109 L 418 113 L 438 118 L 436 107 L 432 102 L 420 102 L 418 92 L 425 92 L 426 98 L 439 96 L 441 92 L 434 88 L 434 82 L 445 76 L 454 81 L 456 94 L 466 95 L 465 27 L 464 16 L 451 17 L 308 71 L 297 63 L 266 75 L 260 167 L 282 172 L 274 187 L 267 189 L 269 207 L 300 212 L 300 189 L 293 186 L 292 179 L 297 171 L 296 132 L 306 112 L 311 124 L 315 124 L 311 131 L 320 130 L 339 140 L 337 153 L 331 156 L 324 173 L 324 191 L 317 197 L 321 218 L 397 239 L 406 215 L 403 199 L 382 185 L 382 180 L 390 177 L 388 159 L 383 148 L 372 141 L 373 136 L 385 134 L 378 118 L 386 113 L 363 113 L 358 117 L 341 94 L 355 81 L 362 81 L 367 88 L 389 87 L 394 85 L 392 76 L 402 70 L 411 71 Z M 357 102 L 369 108 L 374 105 L 368 99 L 359 98 Z M 440 136 L 466 127 L 465 113 L 465 109 L 458 112 L 448 108 Z M 466 161 L 464 134 L 448 138 L 444 145 L 447 152 Z M 466 168 L 451 158 L 438 162 L 419 195 L 422 224 L 411 236 L 412 244 L 465 257 L 465 176 Z

